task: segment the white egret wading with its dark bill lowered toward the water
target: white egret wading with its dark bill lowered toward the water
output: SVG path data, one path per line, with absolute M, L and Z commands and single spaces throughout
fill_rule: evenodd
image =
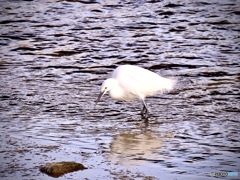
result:
M 111 78 L 103 82 L 96 104 L 108 91 L 113 99 L 122 101 L 140 99 L 143 103 L 141 114 L 147 119 L 149 111 L 145 97 L 168 92 L 173 89 L 174 85 L 175 80 L 161 77 L 147 69 L 133 65 L 121 65 L 113 71 Z

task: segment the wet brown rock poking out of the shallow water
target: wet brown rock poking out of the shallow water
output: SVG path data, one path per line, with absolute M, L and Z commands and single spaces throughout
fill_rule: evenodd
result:
M 53 162 L 40 167 L 40 171 L 52 177 L 60 177 L 66 173 L 87 169 L 81 163 L 76 162 Z

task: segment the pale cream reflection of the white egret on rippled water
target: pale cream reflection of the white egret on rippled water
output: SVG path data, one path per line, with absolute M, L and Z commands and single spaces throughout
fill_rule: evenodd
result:
M 149 131 L 116 135 L 110 146 L 109 159 L 125 166 L 162 161 L 160 152 L 165 139 Z

